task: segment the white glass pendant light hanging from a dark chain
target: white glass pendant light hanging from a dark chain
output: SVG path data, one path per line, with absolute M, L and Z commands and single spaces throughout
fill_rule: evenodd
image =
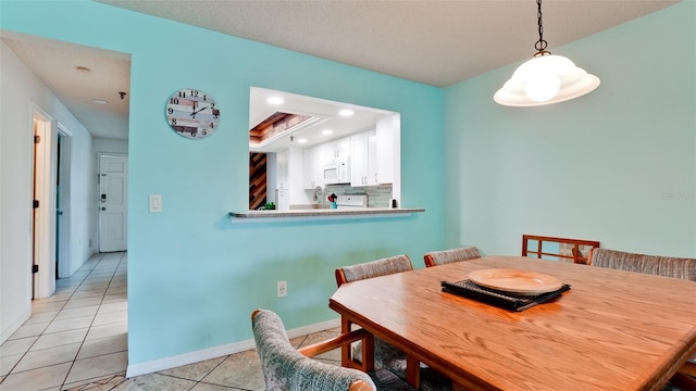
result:
M 536 0 L 539 40 L 532 60 L 520 65 L 493 100 L 509 106 L 536 106 L 582 97 L 599 86 L 599 78 L 562 55 L 546 50 L 542 26 L 542 0 Z

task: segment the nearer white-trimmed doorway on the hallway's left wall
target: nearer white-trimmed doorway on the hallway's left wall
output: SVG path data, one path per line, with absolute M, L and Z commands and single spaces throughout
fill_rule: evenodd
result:
M 39 207 L 33 211 L 34 299 L 48 298 L 55 291 L 55 168 L 57 122 L 36 103 L 32 103 L 32 137 L 40 136 L 34 143 L 34 199 Z

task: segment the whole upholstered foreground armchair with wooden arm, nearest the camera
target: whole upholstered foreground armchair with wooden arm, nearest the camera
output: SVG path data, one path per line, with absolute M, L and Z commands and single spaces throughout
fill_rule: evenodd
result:
M 296 350 L 281 317 L 272 311 L 251 314 L 253 338 L 268 391 L 414 391 L 386 369 L 370 374 L 311 358 L 345 343 L 371 339 L 362 329 Z

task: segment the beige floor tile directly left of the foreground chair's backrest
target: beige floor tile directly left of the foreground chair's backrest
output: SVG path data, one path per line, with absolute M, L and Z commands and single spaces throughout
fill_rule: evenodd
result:
M 236 387 L 245 390 L 264 390 L 261 361 L 256 350 L 227 356 L 202 382 Z

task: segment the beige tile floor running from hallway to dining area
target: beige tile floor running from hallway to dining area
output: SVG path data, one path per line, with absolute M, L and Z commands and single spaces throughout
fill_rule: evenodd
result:
M 0 345 L 0 391 L 263 390 L 256 350 L 125 378 L 127 254 L 96 254 L 55 294 L 32 303 L 32 317 Z M 249 325 L 251 327 L 251 325 Z M 291 340 L 295 346 L 339 329 Z M 340 365 L 339 352 L 321 357 Z

